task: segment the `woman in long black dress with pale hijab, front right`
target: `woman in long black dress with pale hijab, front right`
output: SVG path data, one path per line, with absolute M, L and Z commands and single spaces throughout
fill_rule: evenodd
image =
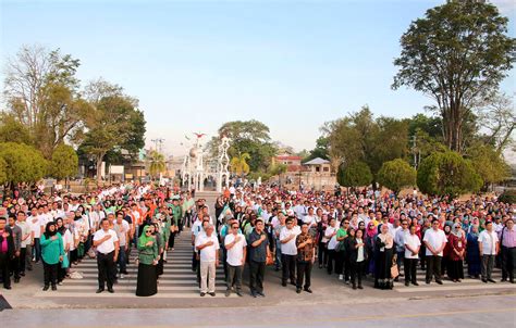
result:
M 374 288 L 392 289 L 393 280 L 391 276 L 392 254 L 394 239 L 389 232 L 388 225 L 381 225 L 380 234 L 374 241 Z

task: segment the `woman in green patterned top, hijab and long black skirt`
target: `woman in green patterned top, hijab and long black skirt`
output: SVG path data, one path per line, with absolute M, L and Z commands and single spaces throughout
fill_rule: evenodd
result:
M 137 297 L 151 297 L 158 292 L 156 266 L 158 264 L 158 242 L 152 236 L 152 226 L 146 226 L 138 238 Z

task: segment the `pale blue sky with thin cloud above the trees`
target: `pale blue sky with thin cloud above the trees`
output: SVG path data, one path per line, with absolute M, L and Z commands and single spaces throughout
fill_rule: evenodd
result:
M 79 59 L 83 81 L 103 77 L 140 100 L 147 143 L 164 138 L 168 154 L 183 153 L 185 135 L 250 118 L 311 149 L 324 122 L 365 104 L 395 117 L 432 104 L 391 90 L 392 62 L 409 23 L 442 2 L 3 0 L 0 55 L 39 43 Z M 514 36 L 514 2 L 493 2 Z

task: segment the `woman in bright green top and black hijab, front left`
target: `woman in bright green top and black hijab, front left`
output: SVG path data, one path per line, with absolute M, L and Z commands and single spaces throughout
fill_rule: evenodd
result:
M 45 273 L 45 287 L 48 290 L 52 283 L 52 290 L 58 290 L 58 269 L 59 264 L 63 261 L 64 247 L 61 234 L 58 232 L 56 224 L 49 222 L 45 228 L 45 232 L 39 240 L 41 244 L 41 257 Z

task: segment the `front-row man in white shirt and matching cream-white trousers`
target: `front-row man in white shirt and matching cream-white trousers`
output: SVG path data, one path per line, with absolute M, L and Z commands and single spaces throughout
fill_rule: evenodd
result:
M 212 224 L 207 225 L 206 234 L 199 234 L 195 241 L 195 249 L 200 253 L 200 297 L 206 295 L 206 293 L 212 297 L 216 295 L 216 267 L 219 266 L 220 247 L 213 230 Z

